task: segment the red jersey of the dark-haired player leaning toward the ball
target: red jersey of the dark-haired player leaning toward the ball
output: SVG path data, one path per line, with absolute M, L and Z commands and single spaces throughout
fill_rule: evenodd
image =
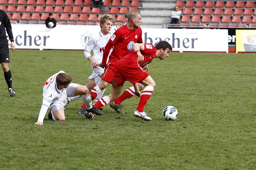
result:
M 141 55 L 144 56 L 144 60 L 138 62 L 140 67 L 146 66 L 148 63 L 151 63 L 153 58 L 156 58 L 156 48 L 152 44 L 144 44 L 144 51 L 141 51 Z M 124 58 L 131 58 L 137 61 L 138 55 L 134 50 L 130 51 Z

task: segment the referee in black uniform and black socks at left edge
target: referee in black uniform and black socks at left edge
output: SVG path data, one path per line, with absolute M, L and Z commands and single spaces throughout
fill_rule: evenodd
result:
M 16 93 L 12 87 L 12 74 L 8 67 L 8 63 L 10 62 L 10 56 L 5 29 L 11 41 L 11 50 L 14 51 L 15 45 L 9 17 L 7 16 L 4 10 L 0 9 L 0 63 L 4 71 L 4 78 L 8 85 L 10 96 L 15 96 Z

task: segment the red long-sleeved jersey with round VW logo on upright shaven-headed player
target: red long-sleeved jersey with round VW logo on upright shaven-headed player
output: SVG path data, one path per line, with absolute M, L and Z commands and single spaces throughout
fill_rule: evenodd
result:
M 116 30 L 109 39 L 109 42 L 114 44 L 114 49 L 109 56 L 109 61 L 118 61 L 132 50 L 133 43 L 143 43 L 141 28 L 130 30 L 127 25 L 124 25 Z M 102 63 L 106 63 L 108 55 L 109 54 L 104 55 L 103 53 Z

